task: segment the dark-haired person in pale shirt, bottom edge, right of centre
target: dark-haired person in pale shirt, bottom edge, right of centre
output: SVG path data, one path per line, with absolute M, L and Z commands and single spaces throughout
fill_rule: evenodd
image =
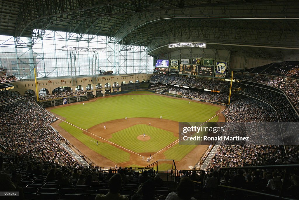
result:
M 194 185 L 189 177 L 181 179 L 176 191 L 177 193 L 169 193 L 165 200 L 196 200 L 192 197 L 194 193 Z

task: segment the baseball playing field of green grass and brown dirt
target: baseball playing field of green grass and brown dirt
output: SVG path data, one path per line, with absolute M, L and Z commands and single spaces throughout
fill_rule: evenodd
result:
M 98 166 L 145 167 L 173 159 L 184 169 L 194 166 L 207 146 L 179 145 L 178 122 L 224 121 L 218 114 L 223 109 L 163 95 L 126 94 L 48 110 L 60 119 L 52 126 Z

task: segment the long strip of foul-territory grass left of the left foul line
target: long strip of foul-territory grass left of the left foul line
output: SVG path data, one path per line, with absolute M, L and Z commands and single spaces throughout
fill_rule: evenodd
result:
M 81 141 L 83 144 L 88 146 L 91 150 L 97 152 L 100 155 L 105 156 L 109 160 L 115 163 L 127 162 L 130 161 L 130 153 L 125 152 L 115 146 L 112 146 L 108 143 L 100 142 L 99 145 L 96 145 L 96 140 L 94 138 L 85 135 L 81 129 L 76 128 L 68 123 L 61 122 L 59 126 Z M 94 142 L 92 142 L 94 141 Z

